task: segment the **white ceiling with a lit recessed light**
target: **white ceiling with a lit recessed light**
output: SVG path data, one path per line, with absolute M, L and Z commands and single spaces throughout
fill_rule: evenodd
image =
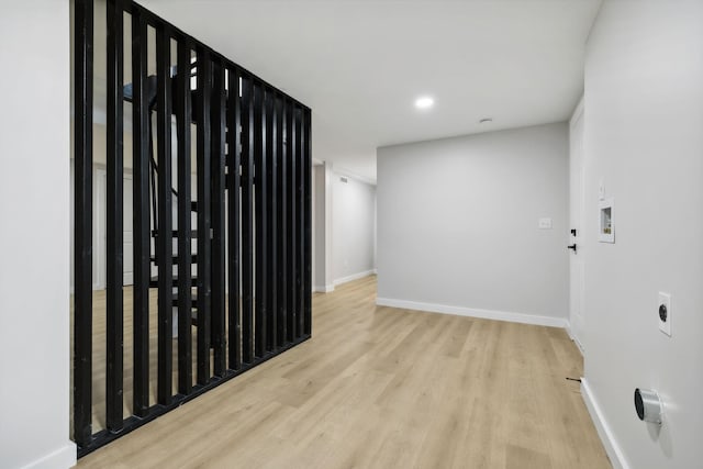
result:
M 567 120 L 601 0 L 140 2 L 312 108 L 313 158 L 375 180 L 379 146 Z

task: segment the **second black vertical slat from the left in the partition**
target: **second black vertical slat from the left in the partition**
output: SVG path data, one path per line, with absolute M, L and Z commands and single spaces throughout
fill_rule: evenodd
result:
M 107 427 L 123 426 L 123 10 L 121 0 L 108 0 L 108 79 L 107 79 Z

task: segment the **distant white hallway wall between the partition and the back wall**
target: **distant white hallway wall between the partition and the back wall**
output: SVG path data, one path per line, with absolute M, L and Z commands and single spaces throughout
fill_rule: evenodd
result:
M 332 272 L 341 283 L 376 269 L 376 187 L 338 172 L 331 179 Z

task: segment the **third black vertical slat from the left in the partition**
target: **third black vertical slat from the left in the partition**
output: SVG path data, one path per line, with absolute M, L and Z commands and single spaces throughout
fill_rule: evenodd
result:
M 132 14 L 132 143 L 134 233 L 134 414 L 149 407 L 149 108 L 146 86 L 147 35 L 142 14 Z

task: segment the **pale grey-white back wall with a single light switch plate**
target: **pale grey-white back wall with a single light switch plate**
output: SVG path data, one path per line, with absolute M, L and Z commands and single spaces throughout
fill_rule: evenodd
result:
M 565 123 L 379 148 L 378 301 L 563 325 L 567 212 Z

